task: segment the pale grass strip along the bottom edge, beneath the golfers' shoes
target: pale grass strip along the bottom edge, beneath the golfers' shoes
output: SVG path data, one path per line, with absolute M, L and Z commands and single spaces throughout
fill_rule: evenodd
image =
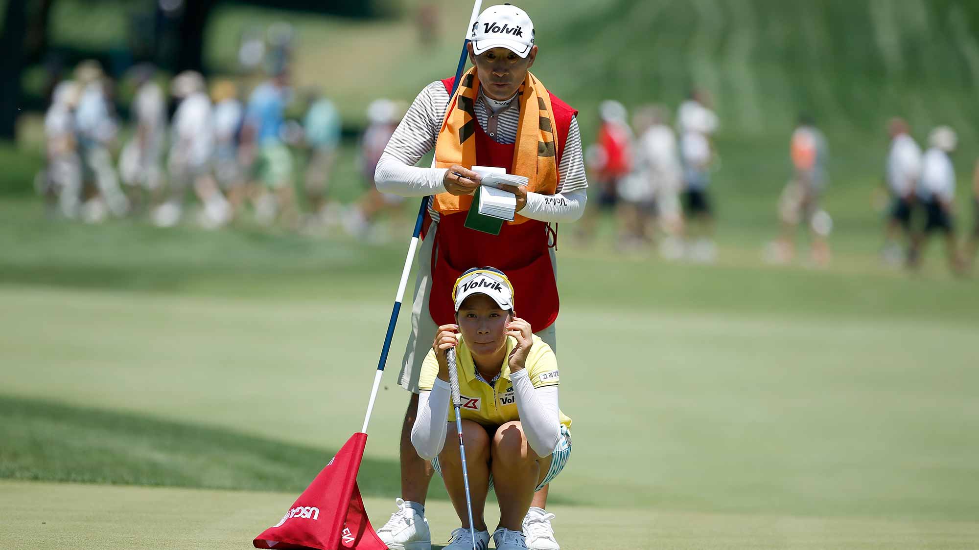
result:
M 0 546 L 32 549 L 250 548 L 298 494 L 0 481 Z M 364 499 L 383 525 L 389 499 Z M 487 521 L 496 517 L 490 506 Z M 553 506 L 565 550 L 971 549 L 979 524 L 770 514 L 682 513 Z M 428 503 L 434 548 L 458 526 L 445 501 Z

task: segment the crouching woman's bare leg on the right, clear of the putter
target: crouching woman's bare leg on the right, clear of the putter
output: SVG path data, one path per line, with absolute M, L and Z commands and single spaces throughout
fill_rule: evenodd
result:
M 534 500 L 534 488 L 547 474 L 551 458 L 541 459 L 536 455 L 520 422 L 507 422 L 493 435 L 491 460 L 499 525 L 523 530 L 524 517 Z M 541 462 L 546 462 L 547 468 Z

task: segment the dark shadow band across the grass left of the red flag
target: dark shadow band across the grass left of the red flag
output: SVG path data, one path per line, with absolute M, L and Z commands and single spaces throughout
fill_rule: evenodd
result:
M 296 492 L 337 450 L 11 396 L 0 396 L 0 441 L 0 478 Z M 365 458 L 358 482 L 394 498 L 397 460 Z

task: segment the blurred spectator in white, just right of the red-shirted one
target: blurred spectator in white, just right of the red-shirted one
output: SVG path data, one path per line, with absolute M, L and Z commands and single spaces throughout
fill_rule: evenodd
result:
M 639 137 L 635 146 L 635 166 L 648 182 L 655 214 L 666 233 L 666 238 L 660 244 L 660 252 L 665 257 L 677 258 L 683 253 L 680 241 L 683 213 L 679 204 L 682 168 L 676 134 L 670 127 L 668 117 L 667 110 L 658 105 L 643 108 L 636 114 L 635 128 Z M 653 213 L 651 210 L 647 212 Z

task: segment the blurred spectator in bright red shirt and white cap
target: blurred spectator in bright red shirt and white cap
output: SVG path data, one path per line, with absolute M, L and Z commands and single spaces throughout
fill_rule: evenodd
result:
M 632 170 L 633 136 L 626 107 L 618 101 L 605 100 L 598 106 L 598 115 L 601 124 L 597 142 L 587 155 L 588 165 L 598 180 L 598 202 L 585 211 L 579 229 L 583 239 L 594 235 L 596 217 L 603 210 L 615 212 L 617 225 L 621 223 L 625 214 L 617 211 L 619 184 Z

